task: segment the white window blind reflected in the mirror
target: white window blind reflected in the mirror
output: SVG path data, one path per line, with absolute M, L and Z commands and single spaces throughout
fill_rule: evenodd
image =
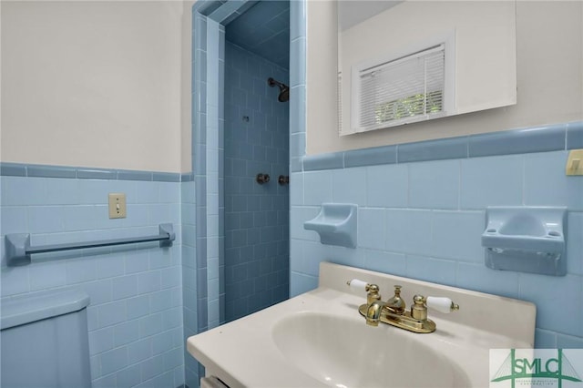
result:
M 444 113 L 445 45 L 357 71 L 359 132 Z

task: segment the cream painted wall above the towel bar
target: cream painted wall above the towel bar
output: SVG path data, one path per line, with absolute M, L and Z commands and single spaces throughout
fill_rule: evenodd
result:
M 1 160 L 188 171 L 184 12 L 181 2 L 3 2 Z

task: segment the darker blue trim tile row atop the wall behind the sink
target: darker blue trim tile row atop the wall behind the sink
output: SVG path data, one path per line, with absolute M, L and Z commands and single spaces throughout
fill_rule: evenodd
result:
M 375 166 L 583 148 L 583 121 L 305 156 L 292 171 Z

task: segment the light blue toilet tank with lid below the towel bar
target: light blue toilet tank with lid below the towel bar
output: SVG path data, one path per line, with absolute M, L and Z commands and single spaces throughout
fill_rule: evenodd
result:
M 3 388 L 91 387 L 84 291 L 48 291 L 1 302 Z

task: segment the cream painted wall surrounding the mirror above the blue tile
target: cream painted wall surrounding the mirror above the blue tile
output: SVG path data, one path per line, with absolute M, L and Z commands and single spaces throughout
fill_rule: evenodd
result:
M 335 107 L 337 45 L 332 37 L 337 31 L 335 4 L 309 1 L 307 6 L 308 154 L 583 118 L 583 3 L 518 1 L 517 105 L 340 138 Z

